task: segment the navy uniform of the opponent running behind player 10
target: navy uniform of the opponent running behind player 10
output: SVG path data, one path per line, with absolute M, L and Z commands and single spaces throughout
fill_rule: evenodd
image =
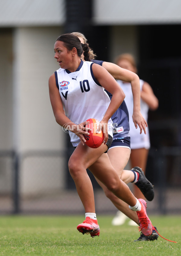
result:
M 92 60 L 92 62 L 102 66 L 102 60 Z M 105 90 L 106 91 L 106 90 Z M 112 98 L 112 94 L 106 91 Z M 112 147 L 128 147 L 130 149 L 130 135 L 129 135 L 129 114 L 125 101 L 122 102 L 120 107 L 111 117 L 113 121 L 113 142 L 111 143 L 110 148 Z M 131 150 L 131 149 L 130 149 Z

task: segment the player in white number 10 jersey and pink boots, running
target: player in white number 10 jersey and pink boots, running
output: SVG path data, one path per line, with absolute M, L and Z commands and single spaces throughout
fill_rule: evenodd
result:
M 127 203 L 131 210 L 136 211 L 142 233 L 151 235 L 152 224 L 146 214 L 146 202 L 132 194 L 105 153 L 113 139 L 111 116 L 119 108 L 125 94 L 106 69 L 87 61 L 89 47 L 86 43 L 81 43 L 75 35 L 59 36 L 54 51 L 60 68 L 49 78 L 49 95 L 56 122 L 69 129 L 71 143 L 75 147 L 68 168 L 86 217 L 84 222 L 77 226 L 78 231 L 83 234 L 90 233 L 91 237 L 100 234 L 93 187 L 86 171 L 89 168 L 108 190 Z M 85 62 L 81 60 L 82 53 Z M 104 88 L 112 94 L 111 100 Z M 84 138 L 84 135 L 89 135 L 89 131 L 84 127 L 89 118 L 100 120 L 100 129 L 103 130 L 104 143 L 97 149 L 88 147 Z M 144 120 L 140 126 L 145 126 Z

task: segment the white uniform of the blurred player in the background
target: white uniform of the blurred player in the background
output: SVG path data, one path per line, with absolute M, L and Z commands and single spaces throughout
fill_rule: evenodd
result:
M 129 112 L 129 134 L 131 138 L 131 149 L 140 149 L 140 148 L 150 148 L 150 137 L 149 137 L 149 130 L 146 130 L 147 134 L 144 134 L 144 131 L 140 134 L 139 126 L 136 129 L 135 124 L 132 120 L 133 115 L 133 94 L 132 88 L 130 83 L 123 83 L 121 80 L 117 80 L 118 84 L 121 86 L 122 90 L 125 93 L 125 103 L 128 108 Z M 140 79 L 140 91 L 142 90 L 144 81 Z M 142 99 L 140 99 L 140 107 L 141 107 L 141 114 L 146 121 L 148 121 L 148 104 L 146 104 Z

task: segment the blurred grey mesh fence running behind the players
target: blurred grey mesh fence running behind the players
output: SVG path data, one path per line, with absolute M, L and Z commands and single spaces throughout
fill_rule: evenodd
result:
M 154 170 L 155 188 L 148 213 L 180 214 L 181 147 L 151 148 L 148 166 Z M 165 175 L 168 166 L 172 175 L 169 182 Z M 116 213 L 93 175 L 88 174 L 94 187 L 96 212 Z M 14 151 L 0 151 L 0 214 L 84 213 L 68 175 L 65 152 L 32 151 L 19 156 Z

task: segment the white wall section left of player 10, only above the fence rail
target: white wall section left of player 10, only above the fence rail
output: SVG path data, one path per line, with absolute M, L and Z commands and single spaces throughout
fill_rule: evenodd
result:
M 59 68 L 54 43 L 59 28 L 17 28 L 14 31 L 14 148 L 60 149 L 63 133 L 55 122 L 48 79 Z M 62 135 L 62 136 L 61 136 Z

